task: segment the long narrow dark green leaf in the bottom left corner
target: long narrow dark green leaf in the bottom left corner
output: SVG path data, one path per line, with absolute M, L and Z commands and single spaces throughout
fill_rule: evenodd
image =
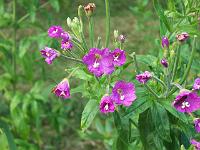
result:
M 13 135 L 9 130 L 8 124 L 6 122 L 0 120 L 0 128 L 2 128 L 3 132 L 6 134 L 10 150 L 16 150 L 17 147 L 15 145 Z

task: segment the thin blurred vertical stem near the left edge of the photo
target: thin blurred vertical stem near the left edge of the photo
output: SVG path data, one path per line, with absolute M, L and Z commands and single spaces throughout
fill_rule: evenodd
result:
M 16 50 L 17 50 L 17 26 L 16 26 L 16 0 L 13 0 L 13 48 L 12 48 L 12 66 L 13 66 L 13 91 L 16 89 Z

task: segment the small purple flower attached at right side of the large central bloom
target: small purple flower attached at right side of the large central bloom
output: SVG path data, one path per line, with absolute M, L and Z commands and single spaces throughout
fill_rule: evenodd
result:
M 114 66 L 122 66 L 126 62 L 124 50 L 115 49 L 112 53 Z

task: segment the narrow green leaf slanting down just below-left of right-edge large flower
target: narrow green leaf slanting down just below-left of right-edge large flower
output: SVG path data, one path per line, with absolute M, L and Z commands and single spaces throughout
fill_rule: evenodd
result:
M 188 123 L 188 119 L 184 113 L 178 112 L 174 107 L 171 106 L 171 104 L 168 101 L 162 101 L 162 106 L 165 107 L 167 111 L 169 111 L 173 116 L 176 118 L 182 120 L 185 123 Z

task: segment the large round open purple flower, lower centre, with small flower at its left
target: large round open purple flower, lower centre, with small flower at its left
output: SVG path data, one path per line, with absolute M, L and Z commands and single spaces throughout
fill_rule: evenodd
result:
M 115 83 L 112 90 L 112 99 L 118 105 L 130 106 L 136 99 L 134 84 L 125 81 Z

